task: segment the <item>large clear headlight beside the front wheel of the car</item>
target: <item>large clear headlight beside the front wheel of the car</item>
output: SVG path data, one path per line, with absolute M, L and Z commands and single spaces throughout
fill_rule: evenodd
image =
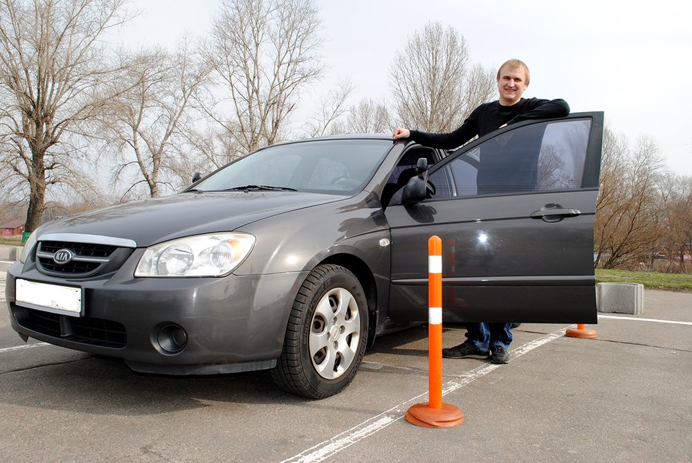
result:
M 136 277 L 218 277 L 230 273 L 255 245 L 247 233 L 214 233 L 156 244 L 144 251 Z

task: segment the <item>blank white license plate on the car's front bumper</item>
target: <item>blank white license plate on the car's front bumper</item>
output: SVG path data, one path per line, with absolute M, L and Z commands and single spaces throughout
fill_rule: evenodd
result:
M 17 279 L 15 299 L 19 305 L 71 316 L 82 315 L 82 289 Z

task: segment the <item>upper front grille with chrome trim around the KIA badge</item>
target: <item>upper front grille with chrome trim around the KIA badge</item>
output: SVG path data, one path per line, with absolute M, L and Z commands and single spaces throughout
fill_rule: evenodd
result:
M 70 262 L 58 264 L 53 260 L 55 253 L 61 249 L 69 249 L 74 253 Z M 102 269 L 116 251 L 118 251 L 118 246 L 107 244 L 42 241 L 39 242 L 36 261 L 42 273 L 84 277 Z

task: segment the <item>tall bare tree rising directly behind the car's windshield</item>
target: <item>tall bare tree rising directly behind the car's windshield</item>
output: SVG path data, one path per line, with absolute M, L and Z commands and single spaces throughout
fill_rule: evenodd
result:
M 323 73 L 313 0 L 224 0 L 209 60 L 223 85 L 204 101 L 242 152 L 286 134 L 300 92 Z

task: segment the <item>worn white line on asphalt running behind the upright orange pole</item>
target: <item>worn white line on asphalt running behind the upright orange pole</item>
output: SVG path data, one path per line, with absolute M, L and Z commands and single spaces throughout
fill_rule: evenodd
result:
M 530 352 L 533 349 L 536 349 L 536 347 L 540 347 L 541 345 L 544 345 L 545 343 L 549 343 L 550 341 L 553 341 L 556 338 L 560 338 L 565 335 L 565 329 L 560 329 L 556 332 L 547 334 L 546 336 L 543 336 L 542 338 L 538 338 L 535 341 L 531 341 L 530 343 L 526 343 L 524 345 L 521 345 L 520 347 L 517 347 L 513 351 L 511 351 L 512 357 L 516 358 L 518 356 L 522 356 L 526 354 L 527 352 Z M 447 381 L 442 385 L 442 395 L 444 396 L 445 394 L 448 394 L 449 392 L 452 392 L 454 390 L 457 390 L 459 388 L 464 387 L 468 383 L 471 383 L 471 381 L 480 378 L 480 376 L 483 376 L 484 374 L 488 374 L 489 372 L 495 370 L 495 368 L 499 368 L 502 365 L 495 365 L 493 363 L 488 363 L 486 365 L 482 365 L 480 367 L 477 367 L 470 372 L 467 372 L 466 374 L 462 374 L 457 376 L 456 379 L 453 379 L 451 381 Z M 411 399 L 408 399 L 407 401 L 404 401 L 402 403 L 399 403 L 399 405 L 394 406 L 390 408 L 389 410 L 380 413 L 379 415 L 376 415 L 370 419 L 367 419 L 363 421 L 361 424 L 358 424 L 354 426 L 353 428 L 344 431 L 343 433 L 340 433 L 334 437 L 332 437 L 329 440 L 326 440 L 324 442 L 320 442 L 320 444 L 317 444 L 316 446 L 312 446 L 308 448 L 305 451 L 302 451 L 301 453 L 298 453 L 298 455 L 295 455 L 287 460 L 283 460 L 282 463 L 293 463 L 293 462 L 300 462 L 300 463 L 317 463 L 317 462 L 322 462 L 326 460 L 327 458 L 336 455 L 336 453 L 339 453 L 340 451 L 345 450 L 349 446 L 352 446 L 353 444 L 356 444 L 357 442 L 365 439 L 365 437 L 368 437 L 374 433 L 377 433 L 378 431 L 383 430 L 390 424 L 394 423 L 395 421 L 399 421 L 400 419 L 403 418 L 403 415 L 406 414 L 406 410 L 410 408 L 415 403 L 419 403 L 421 401 L 421 397 L 426 397 L 428 395 L 428 391 L 424 392 L 423 394 L 419 394 L 416 397 L 412 397 Z

